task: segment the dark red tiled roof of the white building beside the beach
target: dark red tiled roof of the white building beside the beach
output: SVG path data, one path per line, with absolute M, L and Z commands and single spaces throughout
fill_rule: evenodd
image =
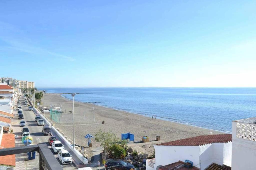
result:
M 204 135 L 196 136 L 192 138 L 186 138 L 181 140 L 175 140 L 171 142 L 161 143 L 157 145 L 163 146 L 199 146 L 208 143 L 224 143 L 232 141 L 231 134 L 221 134 L 221 135 Z

